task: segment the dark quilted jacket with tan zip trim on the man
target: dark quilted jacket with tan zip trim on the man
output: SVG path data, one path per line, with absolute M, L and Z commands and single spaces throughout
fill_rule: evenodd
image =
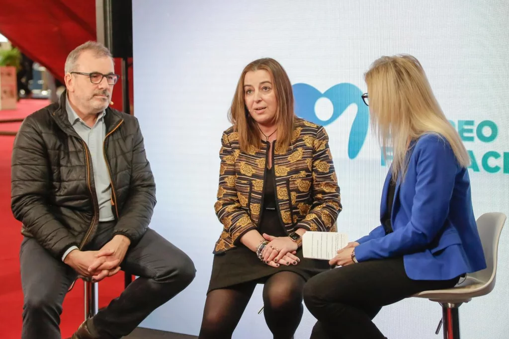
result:
M 70 246 L 82 248 L 99 223 L 92 158 L 69 123 L 66 93 L 26 117 L 14 140 L 11 207 L 21 233 L 33 237 L 55 257 Z M 112 184 L 115 234 L 131 242 L 146 231 L 156 189 L 136 118 L 107 108 L 104 155 Z

